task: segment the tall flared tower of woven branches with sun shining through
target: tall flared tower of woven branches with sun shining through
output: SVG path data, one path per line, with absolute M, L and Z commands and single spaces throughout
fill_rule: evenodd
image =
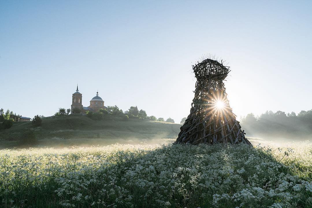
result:
M 222 61 L 212 59 L 193 65 L 197 78 L 195 97 L 175 143 L 251 144 L 227 99 L 223 80 L 230 72 L 229 68 Z

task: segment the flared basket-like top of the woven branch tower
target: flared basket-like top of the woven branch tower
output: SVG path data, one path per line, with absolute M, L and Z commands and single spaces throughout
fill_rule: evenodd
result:
M 202 62 L 198 62 L 193 65 L 193 70 L 197 80 L 209 79 L 209 80 L 224 80 L 227 74 L 230 72 L 230 67 L 224 66 L 217 60 L 205 59 Z

